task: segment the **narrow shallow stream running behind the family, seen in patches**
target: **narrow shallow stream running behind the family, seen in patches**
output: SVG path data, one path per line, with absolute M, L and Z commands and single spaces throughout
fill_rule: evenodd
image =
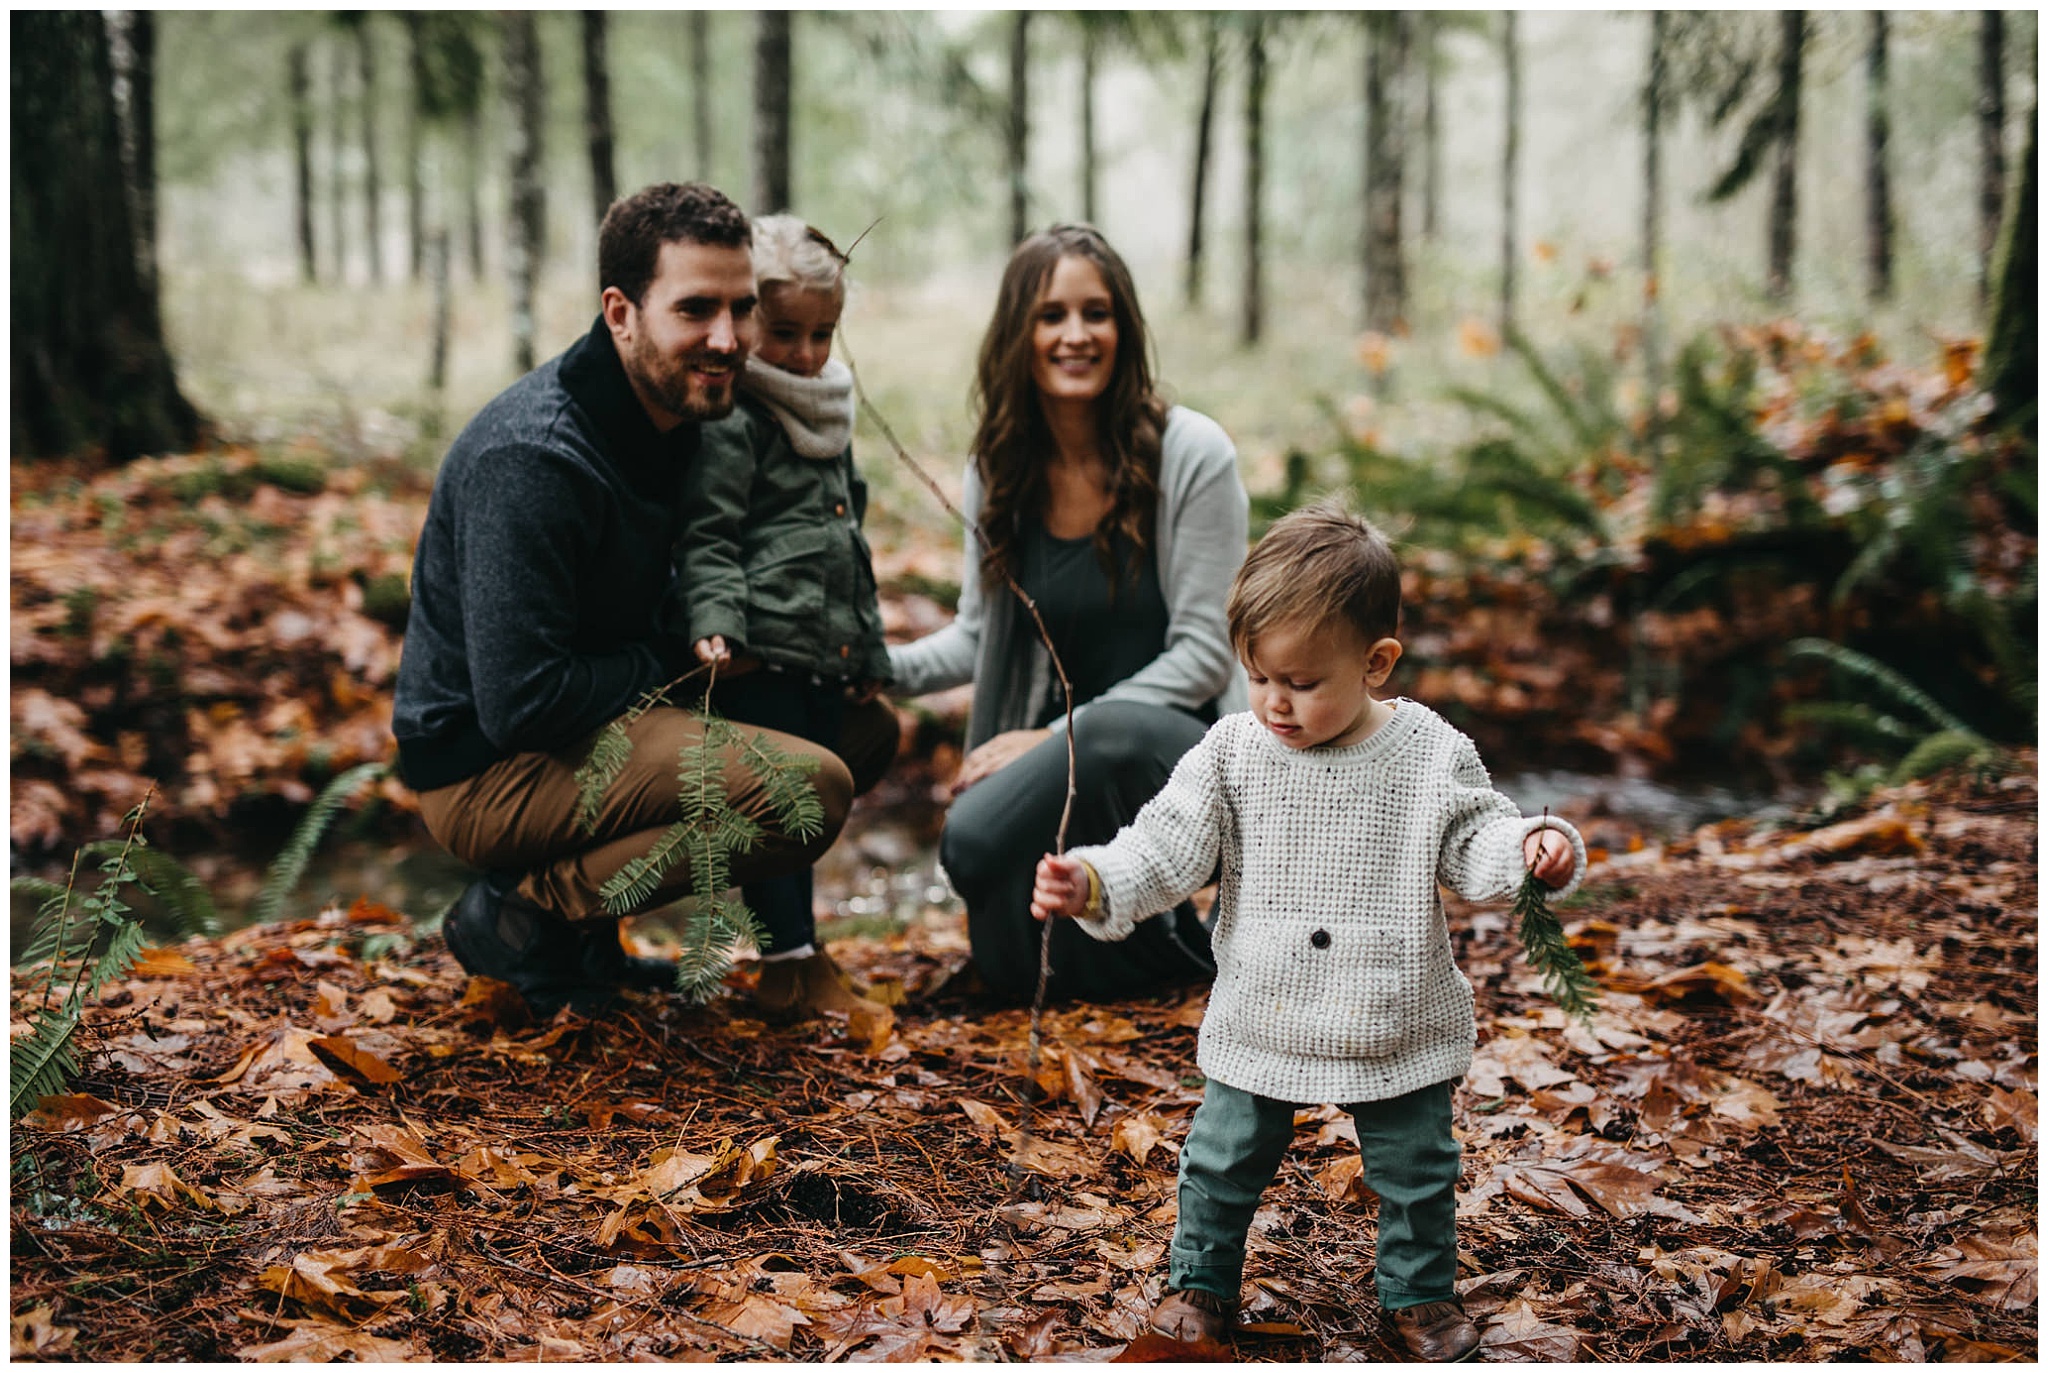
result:
M 1573 820 L 1587 818 L 1589 824 L 1612 830 L 1620 842 L 1630 836 L 1657 842 L 1731 816 L 1790 818 L 1819 795 L 1819 789 L 1769 795 L 1583 773 L 1516 773 L 1497 777 L 1495 785 L 1524 814 L 1550 807 Z M 958 898 L 938 869 L 938 824 L 940 816 L 930 805 L 856 803 L 840 842 L 817 865 L 817 908 L 825 937 L 881 932 L 930 906 L 956 908 Z M 213 891 L 223 924 L 244 924 L 242 912 L 262 887 L 264 863 L 223 852 L 180 857 Z M 63 879 L 61 871 L 41 875 Z M 291 918 L 307 918 L 330 904 L 348 906 L 362 896 L 406 912 L 416 922 L 428 922 L 455 902 L 471 877 L 471 869 L 424 836 L 420 842 L 399 844 L 330 842 L 313 857 L 285 910 Z M 143 902 L 135 906 L 145 910 Z M 27 945 L 33 918 L 35 904 L 16 896 L 12 949 Z M 147 910 L 145 924 L 156 937 L 170 934 L 168 924 L 152 920 Z

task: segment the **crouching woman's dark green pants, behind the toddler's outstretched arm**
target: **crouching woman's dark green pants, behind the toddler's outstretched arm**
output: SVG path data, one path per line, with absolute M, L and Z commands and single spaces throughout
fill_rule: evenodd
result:
M 1098 701 L 1073 732 L 1075 795 L 1067 846 L 1108 842 L 1153 799 L 1206 725 L 1165 705 Z M 1038 859 L 1053 852 L 1067 799 L 1067 740 L 1055 734 L 954 799 L 940 863 L 967 902 L 975 969 L 989 992 L 1030 1000 L 1038 986 L 1040 926 L 1030 918 Z M 1116 1000 L 1204 982 L 1217 971 L 1208 930 L 1190 906 L 1139 924 L 1122 943 L 1090 939 L 1069 920 L 1053 926 L 1047 994 Z

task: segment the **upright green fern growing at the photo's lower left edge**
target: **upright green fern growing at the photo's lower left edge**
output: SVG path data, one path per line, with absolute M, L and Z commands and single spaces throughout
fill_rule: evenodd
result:
M 37 912 L 25 961 L 37 965 L 41 975 L 31 973 L 35 990 L 29 996 L 29 1033 L 8 1047 L 8 1119 L 20 1119 L 43 1096 L 70 1086 L 78 1076 L 78 1029 L 86 1006 L 100 988 L 125 975 L 141 953 L 141 920 L 121 893 L 129 887 L 147 889 L 135 863 L 143 848 L 141 818 L 147 805 L 145 795 L 123 820 L 125 840 L 102 846 L 111 852 L 98 861 L 98 885 L 76 900 L 76 910 L 84 850 L 72 859 L 72 881 Z M 63 998 L 51 1004 L 59 986 Z

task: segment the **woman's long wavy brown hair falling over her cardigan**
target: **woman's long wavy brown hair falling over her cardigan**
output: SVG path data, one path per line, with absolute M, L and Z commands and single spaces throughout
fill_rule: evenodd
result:
M 1016 572 L 1022 521 L 1044 508 L 1044 467 L 1053 430 L 1032 381 L 1032 316 L 1061 258 L 1083 258 L 1102 273 L 1116 318 L 1116 363 L 1110 385 L 1096 400 L 1096 430 L 1110 465 L 1114 504 L 1096 527 L 1096 555 L 1114 590 L 1118 570 L 1110 539 L 1122 531 L 1133 559 L 1151 547 L 1159 510 L 1159 445 L 1165 434 L 1165 400 L 1153 389 L 1151 334 L 1139 311 L 1130 268 L 1108 240 L 1085 223 L 1057 223 L 1032 234 L 1004 268 L 995 316 L 981 336 L 975 367 L 975 463 L 981 471 L 983 580 Z M 1135 574 L 1135 566 L 1130 568 Z

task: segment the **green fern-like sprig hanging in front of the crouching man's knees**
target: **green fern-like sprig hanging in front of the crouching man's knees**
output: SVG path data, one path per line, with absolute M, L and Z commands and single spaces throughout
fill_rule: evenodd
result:
M 674 686 L 674 682 L 672 682 Z M 618 781 L 633 756 L 629 725 L 655 705 L 668 703 L 668 686 L 641 697 L 633 709 L 598 732 L 590 754 L 575 771 L 575 818 L 586 832 L 596 828 L 606 789 Z M 768 809 L 784 834 L 807 840 L 825 828 L 825 805 L 811 785 L 815 758 L 801 758 L 756 734 L 739 730 L 705 705 L 690 711 L 702 727 L 696 744 L 676 758 L 676 801 L 682 816 L 639 859 L 633 859 L 598 889 L 604 910 L 627 916 L 641 910 L 678 863 L 690 873 L 690 914 L 682 928 L 682 953 L 676 959 L 676 990 L 692 1002 L 709 1000 L 725 973 L 731 971 L 731 951 L 737 943 L 760 947 L 766 932 L 743 902 L 725 896 L 731 887 L 731 861 L 750 852 L 766 834 L 752 816 L 733 809 L 725 789 L 725 758 L 739 754 L 762 783 Z

